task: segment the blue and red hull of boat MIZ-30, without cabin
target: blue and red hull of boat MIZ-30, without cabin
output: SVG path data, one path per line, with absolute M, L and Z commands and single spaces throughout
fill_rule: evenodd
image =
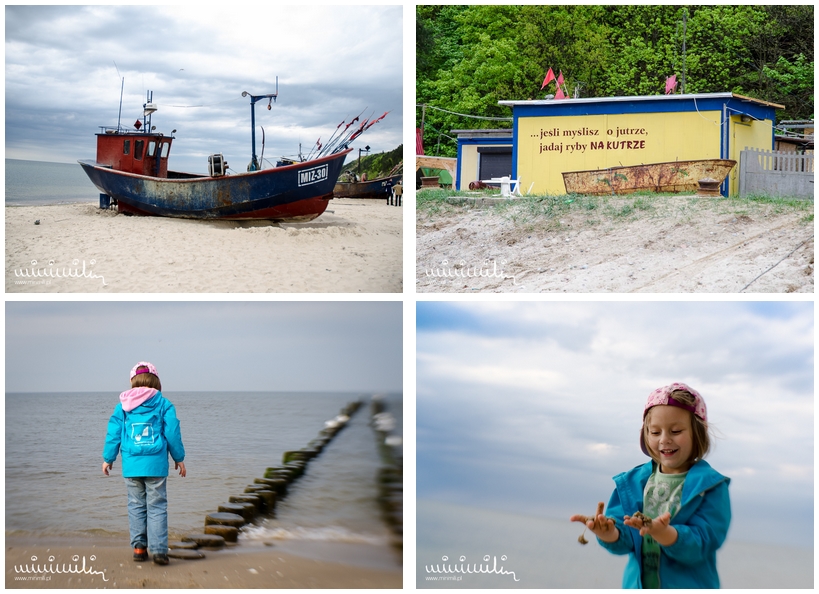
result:
M 168 172 L 167 178 L 116 171 L 80 161 L 99 191 L 121 212 L 187 219 L 308 221 L 327 208 L 344 157 L 321 159 L 220 177 Z

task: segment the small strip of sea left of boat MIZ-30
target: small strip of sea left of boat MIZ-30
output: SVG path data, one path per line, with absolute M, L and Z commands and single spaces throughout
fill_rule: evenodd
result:
M 6 159 L 6 206 L 99 203 L 100 192 L 78 163 Z

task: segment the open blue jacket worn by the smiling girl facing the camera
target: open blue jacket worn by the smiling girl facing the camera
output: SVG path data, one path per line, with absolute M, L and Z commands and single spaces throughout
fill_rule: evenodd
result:
M 655 464 L 647 462 L 614 477 L 606 516 L 614 520 L 620 537 L 612 543 L 597 539 L 610 552 L 629 555 L 623 588 L 642 588 L 643 538 L 639 530 L 623 523 L 623 516 L 643 511 L 643 489 Z M 731 523 L 730 482 L 704 460 L 688 470 L 680 510 L 670 524 L 677 529 L 677 541 L 660 547 L 661 588 L 719 588 L 717 549 L 725 542 Z

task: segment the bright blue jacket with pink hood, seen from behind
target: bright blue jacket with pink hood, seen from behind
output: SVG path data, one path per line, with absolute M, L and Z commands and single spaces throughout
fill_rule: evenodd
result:
M 139 392 L 136 400 L 135 392 Z M 102 459 L 111 464 L 121 450 L 123 477 L 168 476 L 169 452 L 174 462 L 185 460 L 174 405 L 162 392 L 150 388 L 123 392 L 120 400 L 108 421 Z M 136 402 L 139 404 L 130 409 Z

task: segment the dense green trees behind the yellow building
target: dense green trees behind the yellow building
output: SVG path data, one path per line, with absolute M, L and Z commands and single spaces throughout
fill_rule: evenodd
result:
M 541 90 L 550 67 L 579 97 L 659 95 L 676 75 L 678 93 L 684 79 L 687 94 L 734 92 L 784 105 L 778 120 L 812 119 L 813 6 L 418 6 L 424 146 L 454 156 L 450 130 L 511 127 L 498 101 L 553 93 Z

